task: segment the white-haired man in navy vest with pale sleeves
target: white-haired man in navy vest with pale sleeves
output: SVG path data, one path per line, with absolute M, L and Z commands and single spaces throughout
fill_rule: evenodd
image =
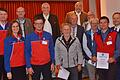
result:
M 95 64 L 92 63 L 92 48 L 93 48 L 93 37 L 94 33 L 98 32 L 98 24 L 99 20 L 97 18 L 93 18 L 90 20 L 91 29 L 86 31 L 83 35 L 83 50 L 87 55 L 88 59 L 86 59 L 86 67 L 88 70 L 89 80 L 95 80 Z

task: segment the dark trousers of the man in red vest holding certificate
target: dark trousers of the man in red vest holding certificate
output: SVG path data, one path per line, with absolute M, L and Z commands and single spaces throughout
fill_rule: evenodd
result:
M 109 69 L 97 69 L 98 80 L 116 80 L 116 63 L 109 64 Z

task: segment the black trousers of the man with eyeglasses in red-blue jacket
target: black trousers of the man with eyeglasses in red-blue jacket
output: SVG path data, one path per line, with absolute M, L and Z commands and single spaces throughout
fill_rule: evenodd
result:
M 52 80 L 51 62 L 44 65 L 32 65 L 32 68 L 34 70 L 32 80 L 40 80 L 41 73 L 43 80 Z

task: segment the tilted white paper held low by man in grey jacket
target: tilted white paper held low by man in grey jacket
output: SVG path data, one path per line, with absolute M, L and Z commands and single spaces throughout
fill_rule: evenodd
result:
M 59 77 L 59 78 L 68 80 L 69 75 L 70 75 L 70 72 L 69 72 L 69 71 L 67 71 L 67 70 L 64 69 L 63 67 L 60 67 L 60 70 L 59 70 L 59 72 L 58 72 L 58 77 Z

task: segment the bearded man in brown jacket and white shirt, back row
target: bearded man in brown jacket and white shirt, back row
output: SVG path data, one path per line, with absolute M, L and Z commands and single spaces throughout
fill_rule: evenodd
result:
M 77 24 L 83 25 L 84 22 L 88 21 L 87 13 L 82 11 L 82 2 L 75 3 L 75 11 L 70 11 L 66 14 L 65 22 L 68 22 L 72 14 L 76 14 L 78 17 Z

